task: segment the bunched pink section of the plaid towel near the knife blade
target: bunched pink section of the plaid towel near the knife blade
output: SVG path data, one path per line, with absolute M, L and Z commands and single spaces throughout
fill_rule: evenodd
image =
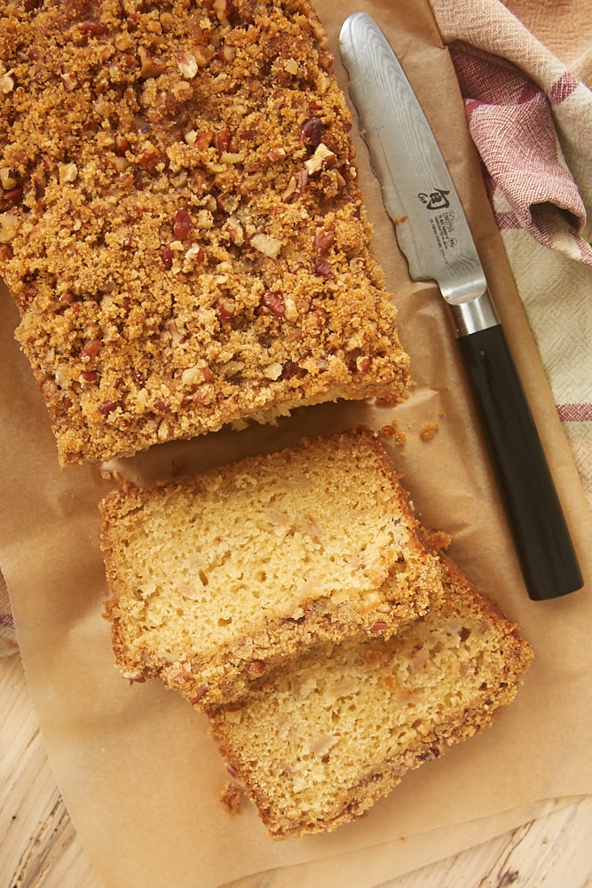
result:
M 582 113 L 592 114 L 592 94 L 567 72 L 542 89 L 497 59 L 454 48 L 451 55 L 498 226 L 523 228 L 545 247 L 592 266 L 592 246 L 582 234 L 586 207 L 552 115 L 553 106 L 579 92 Z

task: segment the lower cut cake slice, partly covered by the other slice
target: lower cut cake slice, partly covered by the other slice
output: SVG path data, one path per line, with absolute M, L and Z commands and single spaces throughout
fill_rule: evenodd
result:
M 445 556 L 442 571 L 444 601 L 396 637 L 317 646 L 209 713 L 271 836 L 354 820 L 514 698 L 531 647 Z

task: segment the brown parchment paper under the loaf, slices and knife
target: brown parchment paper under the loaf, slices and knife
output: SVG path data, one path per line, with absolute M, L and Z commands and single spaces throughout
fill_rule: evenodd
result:
M 520 623 L 536 659 L 517 701 L 491 730 L 408 774 L 367 818 L 299 842 L 269 839 L 249 803 L 228 819 L 217 801 L 227 774 L 205 719 L 158 683 L 130 686 L 114 669 L 101 616 L 106 584 L 97 508 L 109 482 L 96 466 L 59 469 L 43 402 L 13 340 L 17 313 L 2 290 L 0 567 L 51 764 L 109 888 L 296 888 L 311 879 L 318 888 L 367 888 L 527 821 L 553 798 L 592 791 L 592 520 L 485 198 L 454 71 L 425 2 L 317 6 L 335 55 L 346 15 L 374 14 L 422 100 L 462 193 L 587 585 L 564 599 L 528 599 L 446 308 L 433 285 L 409 280 L 359 142 L 375 250 L 413 362 L 411 398 L 394 409 L 298 410 L 275 427 L 162 445 L 118 468 L 150 480 L 166 477 L 173 461 L 192 472 L 357 422 L 380 428 L 396 416 L 407 442 L 388 439 L 387 446 L 420 518 L 454 536 L 454 559 Z M 439 424 L 430 441 L 420 437 L 427 422 Z

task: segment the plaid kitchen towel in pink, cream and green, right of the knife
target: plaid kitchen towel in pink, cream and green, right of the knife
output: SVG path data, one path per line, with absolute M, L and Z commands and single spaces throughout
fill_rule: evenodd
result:
M 431 0 L 485 186 L 592 507 L 589 0 Z

